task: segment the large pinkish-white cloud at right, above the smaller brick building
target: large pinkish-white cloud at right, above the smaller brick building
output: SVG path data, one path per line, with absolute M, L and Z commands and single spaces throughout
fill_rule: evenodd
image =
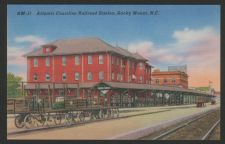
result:
M 207 58 L 219 59 L 220 35 L 212 28 L 174 31 L 174 43 L 157 47 L 152 41 L 128 44 L 128 50 L 138 52 L 155 64 L 195 62 Z

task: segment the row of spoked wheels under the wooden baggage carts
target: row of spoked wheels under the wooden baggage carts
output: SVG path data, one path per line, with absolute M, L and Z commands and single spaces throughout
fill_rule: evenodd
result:
M 61 110 L 46 113 L 24 112 L 15 117 L 17 128 L 37 128 L 51 126 L 70 126 L 93 120 L 111 119 L 119 117 L 119 109 L 111 108 L 85 108 L 79 110 Z

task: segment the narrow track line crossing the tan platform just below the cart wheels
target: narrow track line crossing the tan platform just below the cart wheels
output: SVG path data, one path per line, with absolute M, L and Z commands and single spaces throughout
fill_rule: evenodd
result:
M 56 126 L 37 127 L 37 128 L 32 128 L 32 129 L 25 129 L 25 130 L 18 130 L 18 131 L 9 132 L 7 135 L 10 136 L 10 135 L 25 134 L 25 133 L 30 133 L 30 132 L 44 131 L 44 130 L 53 130 L 53 129 L 59 129 L 59 128 L 76 127 L 76 126 L 81 126 L 81 125 L 89 124 L 89 123 L 96 123 L 96 122 L 102 122 L 102 121 L 107 121 L 107 120 L 115 120 L 115 119 L 125 119 L 125 118 L 130 118 L 130 117 L 135 117 L 135 116 L 149 115 L 149 114 L 161 113 L 161 112 L 166 112 L 166 111 L 171 111 L 171 110 L 167 109 L 167 110 L 161 110 L 161 111 L 156 111 L 156 112 L 147 112 L 147 113 L 127 115 L 127 116 L 119 116 L 119 117 L 116 117 L 116 118 L 91 120 L 91 121 L 86 121 L 86 122 L 78 122 L 78 123 L 71 124 L 71 125 L 56 125 Z

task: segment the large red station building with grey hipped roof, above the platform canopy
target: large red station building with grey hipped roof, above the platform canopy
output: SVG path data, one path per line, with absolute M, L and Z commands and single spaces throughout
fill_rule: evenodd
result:
M 85 97 L 85 88 L 102 82 L 124 86 L 128 83 L 151 84 L 151 65 L 147 59 L 99 38 L 57 40 L 25 56 L 29 83 L 79 84 L 82 90 L 71 89 L 67 95 Z M 52 94 L 52 86 L 49 87 Z M 47 93 L 45 88 L 43 93 Z M 62 93 L 60 89 L 54 89 L 56 96 Z M 91 93 L 94 97 L 99 95 L 95 90 Z M 108 95 L 113 94 L 109 92 Z

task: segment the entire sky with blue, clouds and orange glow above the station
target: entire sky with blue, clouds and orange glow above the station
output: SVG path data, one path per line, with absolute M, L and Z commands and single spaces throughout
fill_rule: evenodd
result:
M 154 68 L 186 64 L 189 87 L 208 86 L 212 81 L 220 90 L 219 5 L 8 5 L 7 11 L 7 70 L 24 80 L 23 54 L 57 39 L 99 37 L 140 53 Z M 58 11 L 157 14 L 56 15 Z

